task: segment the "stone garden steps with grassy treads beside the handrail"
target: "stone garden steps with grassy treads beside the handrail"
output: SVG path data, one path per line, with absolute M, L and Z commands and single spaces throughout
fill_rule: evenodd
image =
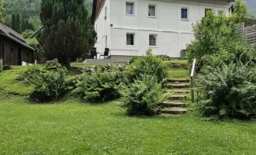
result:
M 168 79 L 166 85 L 167 92 L 171 92 L 172 95 L 166 102 L 161 104 L 161 113 L 168 115 L 180 115 L 185 114 L 186 102 L 189 98 L 190 81 L 188 79 Z

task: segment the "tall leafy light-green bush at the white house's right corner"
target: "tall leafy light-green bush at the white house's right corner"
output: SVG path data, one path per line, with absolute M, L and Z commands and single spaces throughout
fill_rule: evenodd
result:
M 237 29 L 245 22 L 249 12 L 244 2 L 235 1 L 234 14 L 209 11 L 204 19 L 193 26 L 195 40 L 187 47 L 189 63 L 197 59 L 198 67 L 218 66 L 246 56 L 247 46 L 244 45 Z

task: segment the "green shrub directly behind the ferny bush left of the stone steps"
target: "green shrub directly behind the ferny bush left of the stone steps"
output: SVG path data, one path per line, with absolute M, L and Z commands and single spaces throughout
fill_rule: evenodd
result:
M 167 77 L 167 66 L 151 50 L 147 50 L 147 56 L 139 57 L 127 67 L 127 78 L 130 81 L 140 77 L 140 74 L 155 76 L 161 82 Z

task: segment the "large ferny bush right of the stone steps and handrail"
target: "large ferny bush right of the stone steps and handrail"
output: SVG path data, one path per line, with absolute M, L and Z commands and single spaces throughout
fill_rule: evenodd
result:
M 241 62 L 206 67 L 199 75 L 199 110 L 205 116 L 256 116 L 256 72 Z

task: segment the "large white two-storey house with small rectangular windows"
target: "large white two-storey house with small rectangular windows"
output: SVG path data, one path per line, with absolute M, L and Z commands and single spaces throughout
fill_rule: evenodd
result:
M 231 0 L 94 0 L 97 52 L 109 48 L 113 61 L 154 54 L 181 57 L 193 39 L 192 23 L 209 9 L 229 14 Z

